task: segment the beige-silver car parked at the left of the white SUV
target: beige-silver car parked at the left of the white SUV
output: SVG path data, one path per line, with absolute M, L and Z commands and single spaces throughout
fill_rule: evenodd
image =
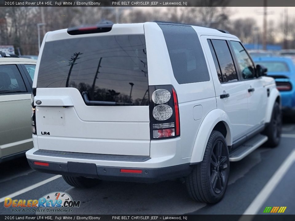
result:
M 0 162 L 33 147 L 30 121 L 36 60 L 0 58 Z

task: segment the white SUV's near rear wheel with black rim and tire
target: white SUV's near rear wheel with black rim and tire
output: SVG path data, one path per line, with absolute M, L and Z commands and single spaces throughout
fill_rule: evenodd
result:
M 217 152 L 220 148 L 221 151 Z M 213 130 L 203 161 L 195 165 L 191 174 L 186 177 L 187 191 L 191 198 L 203 203 L 219 202 L 226 192 L 229 169 L 226 140 L 219 131 Z

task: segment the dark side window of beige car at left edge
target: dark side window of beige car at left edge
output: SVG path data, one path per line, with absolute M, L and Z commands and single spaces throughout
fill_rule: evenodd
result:
M 0 65 L 0 95 L 27 92 L 25 83 L 14 64 Z

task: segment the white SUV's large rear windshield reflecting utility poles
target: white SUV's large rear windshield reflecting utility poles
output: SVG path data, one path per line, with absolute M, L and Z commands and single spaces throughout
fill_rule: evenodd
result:
M 46 42 L 37 87 L 75 87 L 91 101 L 148 105 L 144 35 L 80 37 Z

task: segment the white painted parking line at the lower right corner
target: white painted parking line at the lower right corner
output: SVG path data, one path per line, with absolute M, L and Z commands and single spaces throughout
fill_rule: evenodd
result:
M 246 209 L 243 215 L 257 214 L 258 210 L 261 209 L 262 205 L 268 199 L 269 195 L 273 192 L 277 184 L 284 177 L 285 173 L 291 167 L 295 161 L 295 150 L 293 150 L 289 157 L 281 164 L 279 169 L 273 174 L 267 184 L 263 187 L 260 193 L 256 196 L 250 206 Z

